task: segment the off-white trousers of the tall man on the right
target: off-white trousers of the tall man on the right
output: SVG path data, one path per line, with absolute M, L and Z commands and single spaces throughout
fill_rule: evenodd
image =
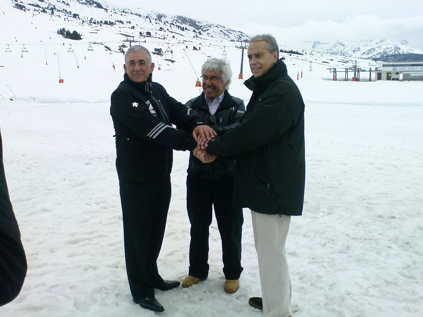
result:
M 292 316 L 291 281 L 286 259 L 286 237 L 291 216 L 266 215 L 251 210 L 258 255 L 263 317 Z

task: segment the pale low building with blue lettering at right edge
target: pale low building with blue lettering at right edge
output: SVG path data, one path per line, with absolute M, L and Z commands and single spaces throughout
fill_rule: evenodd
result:
M 423 80 L 423 61 L 376 64 L 376 80 Z

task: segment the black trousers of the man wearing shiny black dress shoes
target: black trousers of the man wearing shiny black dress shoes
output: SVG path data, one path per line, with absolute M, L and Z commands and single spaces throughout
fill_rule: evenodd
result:
M 135 299 L 154 297 L 163 282 L 157 258 L 170 204 L 170 176 L 145 183 L 120 182 L 126 273 Z

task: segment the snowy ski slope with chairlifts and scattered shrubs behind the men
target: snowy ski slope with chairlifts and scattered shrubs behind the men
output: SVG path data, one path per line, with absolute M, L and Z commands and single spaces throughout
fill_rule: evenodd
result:
M 78 92 L 91 90 L 90 101 L 104 100 L 108 97 L 99 96 L 98 90 L 93 88 L 98 82 L 110 89 L 115 87 L 121 80 L 121 52 L 132 43 L 142 44 L 150 52 L 161 50 L 160 54 L 152 55 L 157 71 L 158 67 L 161 71 L 179 69 L 180 76 L 188 76 L 192 82 L 201 75 L 199 71 L 204 60 L 211 56 L 231 61 L 234 80 L 238 80 L 241 71 L 240 43 L 234 41 L 240 33 L 231 33 L 231 30 L 217 25 L 200 25 L 182 18 L 177 19 L 178 22 L 159 13 L 132 12 L 127 8 L 107 7 L 104 3 L 104 8 L 98 8 L 78 1 L 38 1 L 37 4 L 42 6 L 38 8 L 29 5 L 33 1 L 24 0 L 19 4 L 24 5 L 25 10 L 20 10 L 15 7 L 16 1 L 1 1 L 4 14 L 0 13 L 0 66 L 4 67 L 0 68 L 0 94 L 4 98 L 44 100 L 43 96 L 51 97 L 51 87 L 57 86 L 59 79 L 63 79 L 65 85 L 59 85 L 56 90 L 58 98 L 75 100 Z M 183 24 L 185 22 L 188 25 Z M 200 26 L 201 35 L 196 30 Z M 82 34 L 82 39 L 64 38 L 58 34 L 62 28 Z M 7 49 L 11 52 L 5 52 Z M 22 49 L 27 52 L 22 52 Z M 251 76 L 245 53 L 244 79 Z M 369 60 L 321 53 L 280 53 L 280 56 L 286 58 L 293 77 L 297 74 L 300 77 L 302 73 L 304 76 L 331 79 L 328 68 L 343 71 L 343 68 L 353 66 L 356 60 L 363 69 L 376 67 Z M 89 75 L 83 75 L 87 70 Z M 14 72 L 22 72 L 25 76 L 16 82 L 16 77 L 12 76 Z M 363 73 L 362 78 L 366 75 Z M 83 95 L 86 98 L 87 95 Z

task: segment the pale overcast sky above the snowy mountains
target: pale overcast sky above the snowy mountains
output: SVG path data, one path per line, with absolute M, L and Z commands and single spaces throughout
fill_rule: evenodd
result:
M 119 6 L 181 14 L 241 30 L 272 33 L 280 45 L 392 38 L 423 48 L 423 0 L 108 0 Z

